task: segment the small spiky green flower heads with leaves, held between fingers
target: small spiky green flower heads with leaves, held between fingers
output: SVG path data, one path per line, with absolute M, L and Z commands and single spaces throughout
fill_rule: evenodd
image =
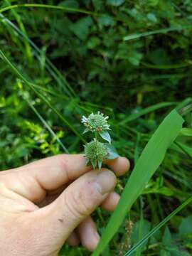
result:
M 92 164 L 93 169 L 98 167 L 101 169 L 102 162 L 106 159 L 115 159 L 119 155 L 117 154 L 114 146 L 111 145 L 111 137 L 108 132 L 110 130 L 110 124 L 104 114 L 99 111 L 97 114 L 90 114 L 88 117 L 82 116 L 81 122 L 85 125 L 85 132 L 95 133 L 95 138 L 85 144 L 85 156 L 87 158 L 87 164 Z M 100 142 L 99 136 L 103 141 Z

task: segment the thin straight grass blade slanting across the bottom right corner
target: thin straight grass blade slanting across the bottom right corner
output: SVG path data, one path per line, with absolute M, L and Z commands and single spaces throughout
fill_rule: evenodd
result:
M 188 198 L 185 202 L 183 202 L 181 204 L 181 206 L 178 206 L 178 208 L 176 208 L 166 218 L 164 218 L 164 220 L 162 220 L 161 223 L 156 225 L 155 228 L 153 228 L 147 235 L 145 235 L 144 238 L 142 238 L 142 240 L 137 242 L 137 244 L 134 245 L 134 247 L 132 247 L 132 249 L 129 250 L 124 256 L 132 255 L 140 246 L 142 246 L 144 244 L 144 242 L 146 242 L 149 238 L 151 238 L 151 236 L 154 235 L 154 233 L 156 233 L 157 230 L 159 230 L 163 225 L 165 225 L 169 220 L 171 220 L 171 218 L 174 217 L 174 215 L 176 215 L 180 210 L 185 208 L 191 202 L 192 202 L 192 196 L 190 198 Z

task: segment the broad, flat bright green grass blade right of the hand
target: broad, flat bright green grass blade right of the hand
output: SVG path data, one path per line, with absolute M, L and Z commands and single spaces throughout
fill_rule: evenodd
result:
M 107 228 L 102 234 L 99 245 L 92 256 L 98 256 L 105 249 L 108 242 L 117 232 L 119 226 L 124 220 L 127 211 L 130 210 L 133 203 L 144 190 L 151 176 L 159 167 L 164 159 L 166 150 L 174 139 L 178 136 L 183 124 L 183 118 L 176 110 L 173 110 L 159 125 L 156 132 L 149 140 L 142 151 L 132 174 L 122 193 L 119 204 L 110 218 Z

